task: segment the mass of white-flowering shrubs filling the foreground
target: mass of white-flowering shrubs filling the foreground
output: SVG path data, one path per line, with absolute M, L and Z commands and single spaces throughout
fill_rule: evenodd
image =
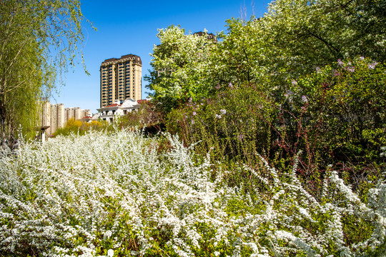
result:
M 386 185 L 368 203 L 331 172 L 322 199 L 262 161 L 222 171 L 164 135 L 91 132 L 0 158 L 0 256 L 380 256 Z M 227 186 L 249 170 L 247 185 Z

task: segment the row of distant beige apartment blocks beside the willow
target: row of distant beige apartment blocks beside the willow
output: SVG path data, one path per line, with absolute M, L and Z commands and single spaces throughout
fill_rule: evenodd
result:
M 79 107 L 64 108 L 64 104 L 51 104 L 48 100 L 41 101 L 41 113 L 39 114 L 39 126 L 49 126 L 46 133 L 51 135 L 56 129 L 62 128 L 69 119 L 83 119 L 90 116 L 89 109 Z

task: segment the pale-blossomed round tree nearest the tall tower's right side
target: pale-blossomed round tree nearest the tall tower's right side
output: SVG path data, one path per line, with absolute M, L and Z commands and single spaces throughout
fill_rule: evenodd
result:
M 192 98 L 207 97 L 213 80 L 207 76 L 214 41 L 206 36 L 185 35 L 179 26 L 159 29 L 161 44 L 154 46 L 153 71 L 146 79 L 154 97 L 170 110 Z

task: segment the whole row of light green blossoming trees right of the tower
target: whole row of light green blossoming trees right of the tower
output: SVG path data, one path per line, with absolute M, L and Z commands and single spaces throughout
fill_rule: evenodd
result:
M 215 86 L 255 84 L 281 94 L 289 79 L 337 59 L 383 62 L 385 9 L 385 1 L 277 0 L 259 19 L 229 19 L 217 44 L 171 26 L 157 35 L 149 88 L 169 110 L 211 96 Z

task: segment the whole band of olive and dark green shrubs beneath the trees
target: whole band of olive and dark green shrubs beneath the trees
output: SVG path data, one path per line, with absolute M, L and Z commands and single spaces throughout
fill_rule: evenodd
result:
M 310 188 L 321 193 L 325 167 L 332 164 L 356 190 L 363 189 L 385 166 L 385 82 L 382 64 L 339 60 L 334 68 L 317 67 L 289 81 L 285 92 L 264 84 L 218 87 L 212 99 L 170 112 L 167 128 L 187 144 L 199 142 L 201 153 L 249 166 L 259 153 L 287 168 L 302 150 L 298 172 Z

